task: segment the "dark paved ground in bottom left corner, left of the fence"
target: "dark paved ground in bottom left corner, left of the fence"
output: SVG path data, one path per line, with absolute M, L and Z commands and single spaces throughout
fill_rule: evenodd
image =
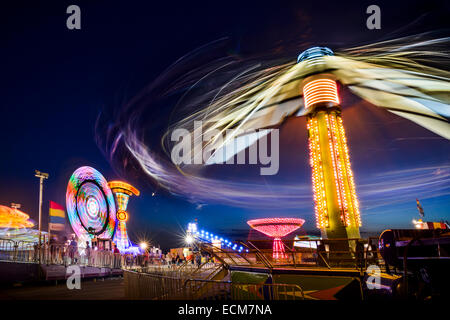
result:
M 33 286 L 0 289 L 0 300 L 117 300 L 124 299 L 123 278 L 86 280 L 81 289 L 69 290 L 65 281 L 58 285 Z

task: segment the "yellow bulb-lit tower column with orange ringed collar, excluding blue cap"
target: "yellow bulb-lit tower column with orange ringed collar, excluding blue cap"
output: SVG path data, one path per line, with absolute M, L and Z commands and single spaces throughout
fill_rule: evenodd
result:
M 311 109 L 307 123 L 316 226 L 329 228 L 333 213 L 344 227 L 359 227 L 359 203 L 336 83 L 326 78 L 311 80 L 304 85 L 303 94 L 306 107 L 332 103 L 325 109 Z

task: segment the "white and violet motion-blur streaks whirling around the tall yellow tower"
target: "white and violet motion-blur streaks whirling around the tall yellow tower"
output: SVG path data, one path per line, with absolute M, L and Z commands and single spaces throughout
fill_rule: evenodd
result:
M 268 189 L 254 181 L 207 176 L 204 166 L 177 166 L 170 160 L 171 133 L 177 128 L 193 132 L 194 121 L 202 121 L 199 139 L 214 133 L 203 148 L 217 152 L 241 138 L 245 130 L 271 129 L 290 116 L 306 114 L 302 81 L 311 74 L 327 73 L 371 104 L 450 139 L 449 38 L 427 37 L 336 50 L 314 63 L 301 59 L 297 63 L 295 57 L 272 61 L 225 57 L 198 65 L 193 62 L 196 52 L 177 61 L 112 121 L 104 120 L 105 127 L 99 124 L 98 143 L 111 161 L 118 161 L 120 152 L 131 155 L 152 181 L 192 201 L 294 208 L 309 201 L 309 184 L 271 183 Z M 159 146 L 149 142 L 148 134 L 161 124 L 150 109 L 180 94 L 161 139 L 165 154 L 158 153 Z M 233 134 L 221 141 L 219 135 L 226 130 Z M 129 165 L 130 159 L 122 160 L 121 165 Z

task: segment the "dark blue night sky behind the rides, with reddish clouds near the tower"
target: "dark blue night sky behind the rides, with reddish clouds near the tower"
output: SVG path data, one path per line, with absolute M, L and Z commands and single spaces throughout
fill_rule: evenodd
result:
M 181 238 L 174 234 L 180 235 L 194 218 L 205 229 L 241 239 L 248 234 L 245 221 L 267 216 L 302 217 L 307 222 L 301 232 L 317 232 L 311 189 L 304 205 L 280 212 L 199 205 L 155 190 L 147 179 L 127 177 L 96 144 L 99 113 L 130 99 L 174 61 L 217 39 L 229 39 L 230 50 L 237 55 L 272 50 L 290 41 L 346 48 L 449 27 L 450 12 L 446 1 L 194 3 L 2 4 L 0 204 L 21 203 L 23 211 L 37 221 L 34 170 L 48 172 L 46 228 L 48 202 L 65 205 L 70 175 L 88 165 L 108 180 L 132 180 L 141 190 L 141 196 L 129 205 L 128 227 L 135 241 L 146 238 L 164 248 L 178 246 Z M 81 8 L 81 30 L 66 28 L 70 4 Z M 381 30 L 366 28 L 365 11 L 370 4 L 381 7 Z M 345 89 L 341 100 L 361 202 L 361 230 L 376 234 L 388 227 L 412 227 L 411 220 L 418 218 L 416 197 L 426 220 L 450 220 L 450 142 L 376 109 Z M 299 182 L 311 188 L 305 120 L 286 122 L 281 138 L 280 173 L 265 181 L 267 188 L 271 181 Z M 234 174 L 242 174 L 236 170 Z

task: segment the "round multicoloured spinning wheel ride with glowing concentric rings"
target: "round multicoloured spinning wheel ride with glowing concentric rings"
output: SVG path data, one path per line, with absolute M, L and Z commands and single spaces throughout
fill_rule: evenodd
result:
M 66 207 L 70 224 L 80 240 L 112 239 L 116 205 L 108 182 L 92 167 L 80 167 L 67 185 Z

